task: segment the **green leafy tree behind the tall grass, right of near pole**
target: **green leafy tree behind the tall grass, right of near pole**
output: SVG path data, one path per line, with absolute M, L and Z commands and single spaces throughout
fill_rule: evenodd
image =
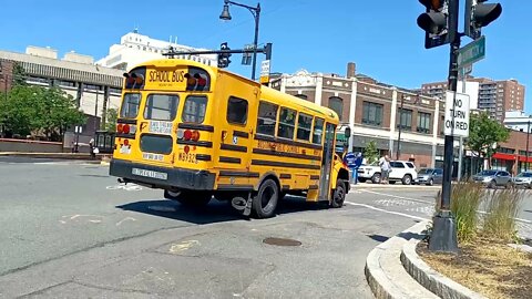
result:
M 509 137 L 510 130 L 490 118 L 487 112 L 471 115 L 467 145 L 477 156 L 488 158 L 490 168 L 491 157 L 495 153 L 493 145 L 505 142 Z

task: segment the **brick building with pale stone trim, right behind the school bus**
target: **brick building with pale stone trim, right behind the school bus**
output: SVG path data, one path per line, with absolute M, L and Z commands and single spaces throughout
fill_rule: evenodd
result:
M 418 167 L 441 166 L 444 103 L 356 74 L 355 68 L 348 64 L 347 76 L 303 70 L 277 76 L 270 85 L 336 111 L 341 124 L 351 127 L 351 151 L 361 152 L 375 141 L 392 158 L 415 161 Z

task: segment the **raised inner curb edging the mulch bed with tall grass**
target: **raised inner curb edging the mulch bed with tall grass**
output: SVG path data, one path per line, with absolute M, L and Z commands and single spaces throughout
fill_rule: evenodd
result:
M 401 262 L 421 286 L 446 299 L 488 299 L 430 268 L 416 252 L 419 241 L 411 239 L 402 246 Z

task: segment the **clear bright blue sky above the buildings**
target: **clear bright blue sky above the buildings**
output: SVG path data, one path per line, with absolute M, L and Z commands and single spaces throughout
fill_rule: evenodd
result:
M 424 32 L 416 20 L 424 11 L 418 0 L 239 0 L 260 2 L 259 45 L 273 43 L 272 72 L 309 72 L 345 75 L 348 62 L 357 73 L 406 89 L 446 81 L 449 45 L 424 49 Z M 464 0 L 460 1 L 461 10 Z M 532 39 L 526 20 L 532 1 L 499 0 L 501 17 L 482 29 L 485 59 L 473 65 L 472 75 L 494 80 L 515 79 L 532 86 Z M 99 60 L 109 47 L 137 28 L 154 39 L 177 37 L 177 43 L 232 49 L 253 43 L 255 21 L 245 9 L 232 6 L 233 19 L 219 20 L 224 1 L 139 0 L 17 0 L 2 1 L 0 49 L 24 52 L 28 45 L 75 51 Z M 463 12 L 460 13 L 460 31 Z M 462 45 L 471 42 L 462 38 Z M 249 65 L 239 65 L 233 54 L 228 70 L 250 76 Z M 258 55 L 257 74 L 260 72 Z M 258 75 L 257 75 L 258 76 Z M 532 90 L 525 110 L 532 112 Z

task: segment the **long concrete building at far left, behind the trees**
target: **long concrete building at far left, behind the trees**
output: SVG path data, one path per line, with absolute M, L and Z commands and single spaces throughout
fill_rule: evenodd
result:
M 93 64 L 88 55 L 69 52 L 58 59 L 50 48 L 28 47 L 25 53 L 0 51 L 0 89 L 8 91 L 13 79 L 13 64 L 21 65 L 29 84 L 58 86 L 72 95 L 85 113 L 81 141 L 94 136 L 106 109 L 119 109 L 123 72 Z

